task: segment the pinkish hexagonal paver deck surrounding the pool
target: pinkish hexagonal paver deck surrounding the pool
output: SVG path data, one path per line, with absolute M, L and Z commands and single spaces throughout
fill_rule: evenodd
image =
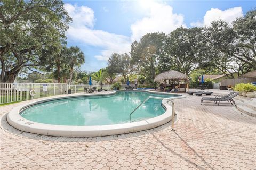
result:
M 175 131 L 169 122 L 93 138 L 21 132 L 6 122 L 6 112 L 31 100 L 2 106 L 0 169 L 256 169 L 256 118 L 185 95 L 173 100 Z

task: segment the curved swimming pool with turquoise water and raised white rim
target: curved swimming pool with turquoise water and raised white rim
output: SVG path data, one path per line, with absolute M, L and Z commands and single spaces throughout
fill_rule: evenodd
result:
M 7 116 L 15 128 L 55 136 L 100 136 L 154 128 L 170 121 L 167 100 L 152 99 L 130 113 L 149 96 L 181 98 L 181 95 L 127 90 L 73 94 L 42 99 L 14 108 Z M 165 102 L 163 102 L 165 101 Z

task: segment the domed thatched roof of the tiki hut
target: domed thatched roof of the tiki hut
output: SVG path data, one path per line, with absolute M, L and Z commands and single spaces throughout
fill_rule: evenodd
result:
M 156 75 L 154 79 L 154 81 L 157 82 L 162 82 L 164 80 L 188 80 L 188 77 L 178 71 L 170 70 Z

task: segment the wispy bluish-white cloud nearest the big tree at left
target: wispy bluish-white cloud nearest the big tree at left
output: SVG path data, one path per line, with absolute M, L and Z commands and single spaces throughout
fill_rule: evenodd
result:
M 73 18 L 73 22 L 69 25 L 69 30 L 66 33 L 68 39 L 86 45 L 102 47 L 101 55 L 94 56 L 97 60 L 107 61 L 114 52 L 130 51 L 130 37 L 93 29 L 95 18 L 91 8 L 71 4 L 65 4 L 65 8 Z

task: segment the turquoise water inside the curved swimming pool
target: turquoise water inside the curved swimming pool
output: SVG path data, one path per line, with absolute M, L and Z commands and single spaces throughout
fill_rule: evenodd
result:
M 120 91 L 108 96 L 87 96 L 59 99 L 24 109 L 22 117 L 54 125 L 110 125 L 129 123 L 129 115 L 147 97 L 176 97 L 148 92 Z M 156 117 L 165 112 L 162 100 L 149 99 L 131 116 L 131 122 Z

